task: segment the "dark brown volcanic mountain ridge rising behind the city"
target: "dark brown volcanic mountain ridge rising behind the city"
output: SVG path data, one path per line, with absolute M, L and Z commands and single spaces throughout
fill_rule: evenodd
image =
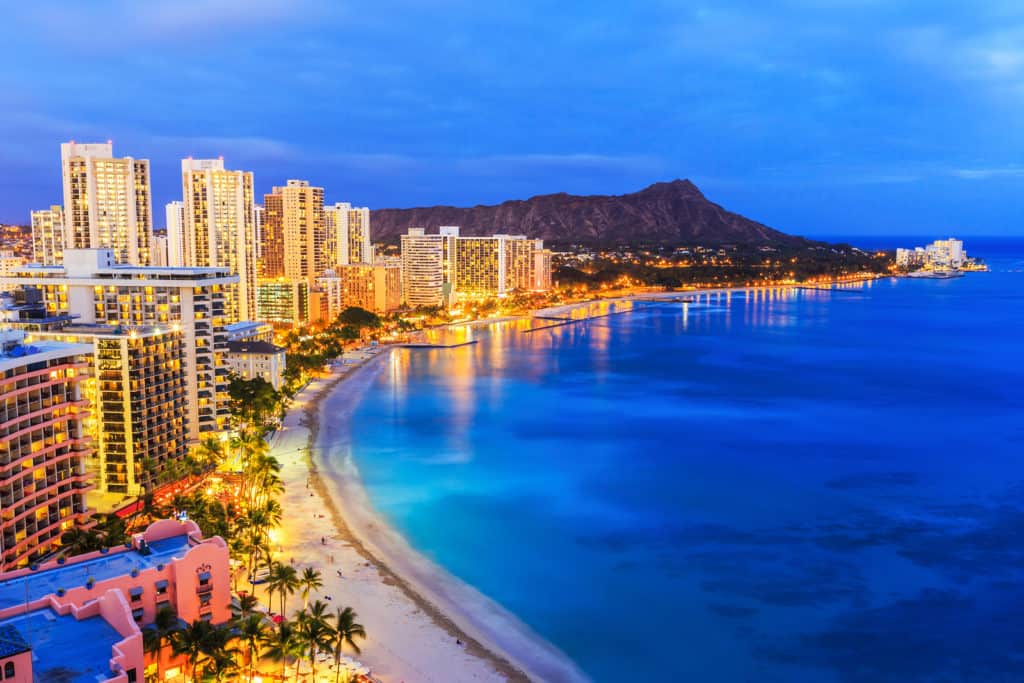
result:
M 548 242 L 625 244 L 799 244 L 785 234 L 709 201 L 689 180 L 657 182 L 638 193 L 579 197 L 560 193 L 497 206 L 378 209 L 375 241 L 397 240 L 410 227 L 459 225 L 463 234 L 506 232 Z

